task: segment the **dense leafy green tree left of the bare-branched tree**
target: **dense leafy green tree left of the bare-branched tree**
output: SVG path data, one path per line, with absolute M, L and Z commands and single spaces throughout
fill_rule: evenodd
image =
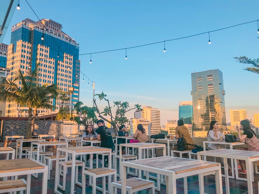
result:
M 78 125 L 86 125 L 97 122 L 95 107 L 82 106 L 83 102 L 78 101 L 74 106 L 77 116 L 71 116 L 70 120 L 75 121 Z

